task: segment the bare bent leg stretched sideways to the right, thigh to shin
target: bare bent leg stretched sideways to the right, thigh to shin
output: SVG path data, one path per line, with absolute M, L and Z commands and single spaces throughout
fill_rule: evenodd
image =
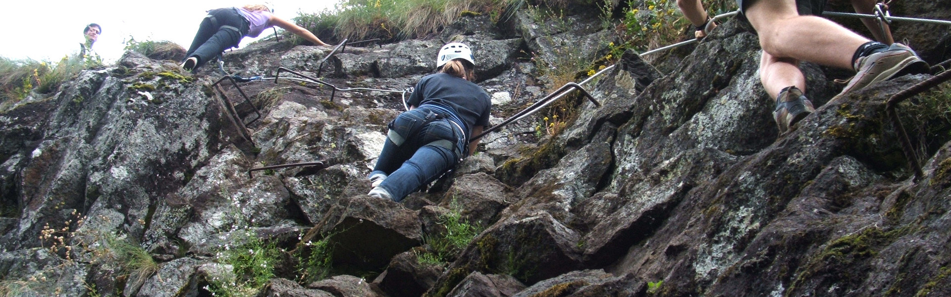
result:
M 756 1 L 746 15 L 773 57 L 853 69 L 852 54 L 869 41 L 825 18 L 799 15 L 795 0 Z

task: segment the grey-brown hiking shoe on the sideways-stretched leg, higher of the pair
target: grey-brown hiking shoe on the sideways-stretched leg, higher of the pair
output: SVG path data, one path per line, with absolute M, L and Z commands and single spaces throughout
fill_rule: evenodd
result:
M 904 74 L 927 73 L 931 70 L 928 63 L 919 58 L 915 50 L 900 43 L 894 43 L 884 51 L 859 57 L 855 60 L 854 67 L 855 76 L 848 81 L 848 85 L 845 85 L 840 94 L 863 89 L 865 86 Z

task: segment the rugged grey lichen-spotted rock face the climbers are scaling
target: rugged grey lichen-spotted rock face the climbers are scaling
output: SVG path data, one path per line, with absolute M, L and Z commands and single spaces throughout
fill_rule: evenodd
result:
M 948 4 L 907 1 L 902 11 L 946 18 Z M 836 96 L 830 78 L 841 71 L 804 63 L 817 110 L 779 134 L 757 37 L 736 20 L 692 51 L 626 52 L 585 86 L 601 107 L 569 96 L 562 107 L 573 112 L 543 109 L 492 133 L 402 204 L 365 195 L 386 125 L 403 109 L 399 90 L 433 72 L 440 45 L 474 45 L 495 125 L 560 87 L 537 75 L 553 65 L 528 58 L 608 52 L 611 30 L 575 12 L 463 17 L 434 39 L 348 47 L 321 69 L 330 49 L 288 41 L 225 54 L 243 76 L 284 67 L 320 73 L 322 85 L 285 71 L 215 84 L 210 67 L 191 75 L 129 52 L 32 94 L 0 113 L 0 292 L 951 293 L 948 88 L 898 107 L 924 169 L 915 179 L 885 102 L 930 75 Z M 946 51 L 947 30 L 932 25 L 896 36 L 932 62 Z M 539 127 L 555 114 L 562 129 Z M 257 170 L 308 162 L 320 164 Z M 460 222 L 474 238 L 437 250 Z

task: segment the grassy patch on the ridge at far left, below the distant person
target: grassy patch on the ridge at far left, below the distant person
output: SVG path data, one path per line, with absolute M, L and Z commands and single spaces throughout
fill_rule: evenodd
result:
M 23 100 L 31 91 L 49 94 L 86 68 L 86 61 L 78 57 L 64 56 L 55 64 L 0 57 L 0 110 Z

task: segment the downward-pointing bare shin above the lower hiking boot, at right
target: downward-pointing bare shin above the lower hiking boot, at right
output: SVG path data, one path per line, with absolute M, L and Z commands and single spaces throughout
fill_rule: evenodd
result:
M 799 69 L 799 61 L 792 58 L 777 58 L 763 51 L 760 59 L 760 81 L 767 89 L 769 98 L 776 100 L 780 90 L 789 86 L 805 91 L 805 75 Z

